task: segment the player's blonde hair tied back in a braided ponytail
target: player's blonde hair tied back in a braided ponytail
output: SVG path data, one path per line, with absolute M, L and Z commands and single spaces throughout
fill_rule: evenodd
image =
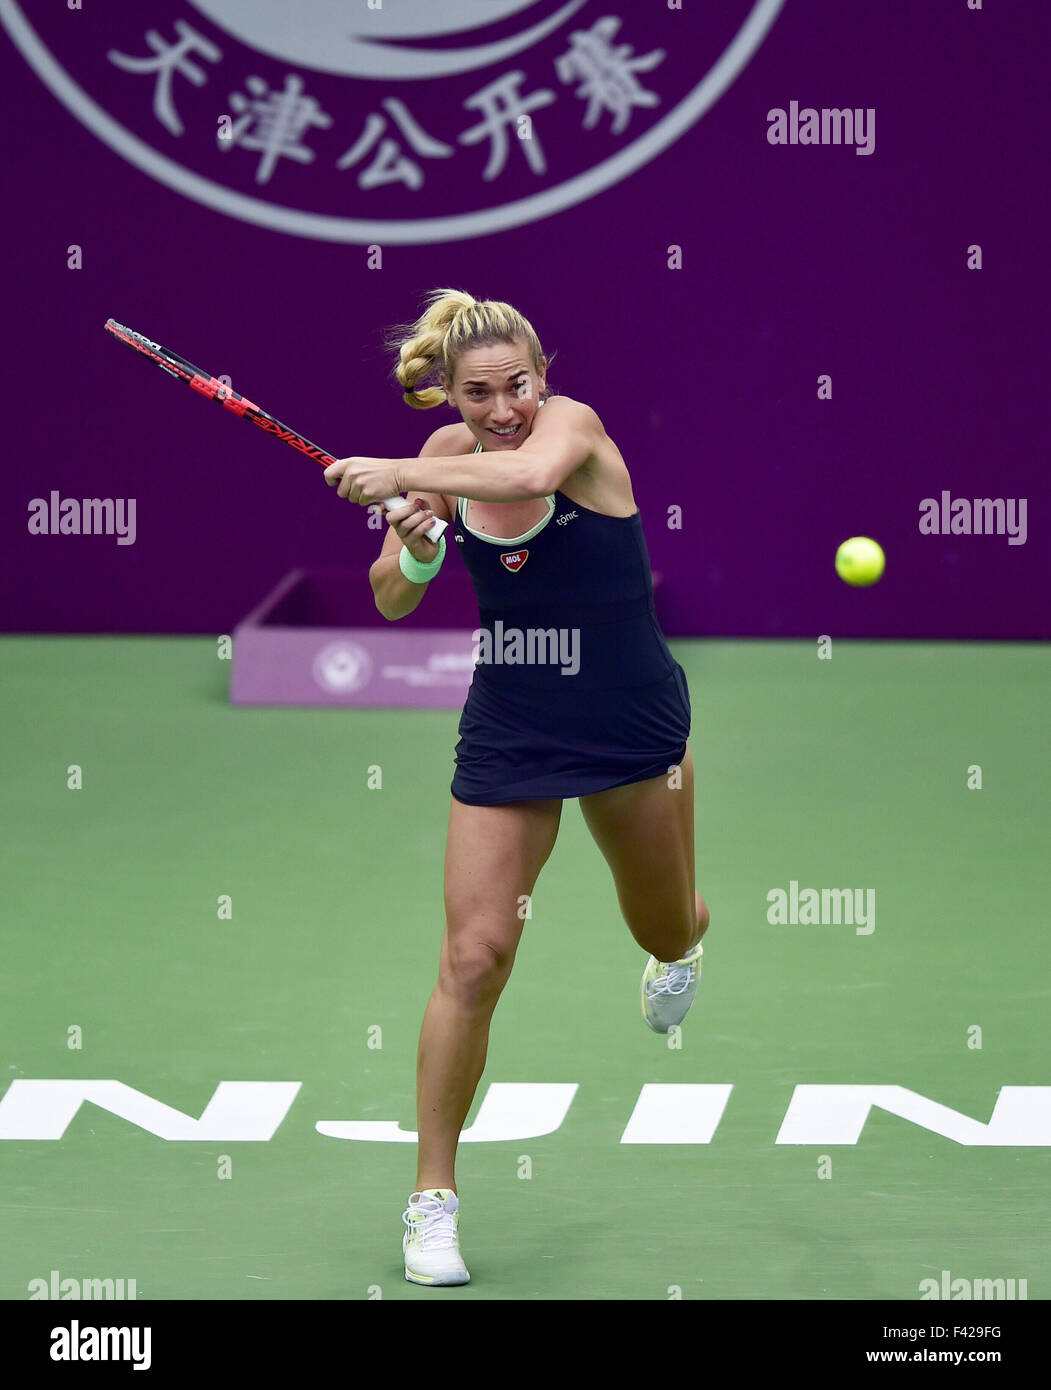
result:
M 471 348 L 488 348 L 496 342 L 526 341 L 532 366 L 539 374 L 544 352 L 532 324 L 517 309 L 499 299 L 474 299 L 463 289 L 432 289 L 427 309 L 414 324 L 393 329 L 386 346 L 398 352 L 398 378 L 405 403 L 413 410 L 430 410 L 445 404 L 445 392 L 437 381 L 443 370 L 449 381 L 455 378 L 456 359 Z M 541 399 L 551 391 L 545 386 Z

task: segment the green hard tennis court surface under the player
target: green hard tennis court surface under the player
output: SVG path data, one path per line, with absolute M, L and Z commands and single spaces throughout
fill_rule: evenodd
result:
M 413 1144 L 316 1126 L 414 1130 L 457 716 L 235 709 L 202 638 L 4 638 L 0 1093 L 115 1080 L 196 1122 L 221 1081 L 299 1090 L 270 1138 L 92 1102 L 6 1137 L 0 1297 L 51 1270 L 150 1300 L 915 1301 L 943 1270 L 1047 1297 L 1048 649 L 671 649 L 712 910 L 681 1047 L 569 803 L 469 1123 L 492 1083 L 577 1090 L 553 1133 L 460 1145 L 473 1282 L 428 1290 Z M 769 922 L 792 883 L 874 929 Z M 659 1086 L 733 1087 L 708 1141 L 621 1143 Z M 777 1143 L 801 1086 L 901 1087 L 970 1138 L 876 1105 L 856 1143 Z M 1004 1087 L 1033 1090 L 994 1129 Z

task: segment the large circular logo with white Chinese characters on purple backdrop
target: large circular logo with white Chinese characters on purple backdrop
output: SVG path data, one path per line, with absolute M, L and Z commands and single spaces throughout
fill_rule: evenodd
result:
M 31 22 L 0 0 L 0 24 L 79 121 L 184 196 L 296 236 L 418 245 L 619 183 L 719 100 L 783 6 L 107 0 Z

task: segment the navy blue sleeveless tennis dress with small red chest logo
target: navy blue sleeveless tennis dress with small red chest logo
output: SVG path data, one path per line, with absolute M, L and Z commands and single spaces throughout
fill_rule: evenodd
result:
M 690 691 L 658 626 L 638 512 L 546 500 L 546 520 L 509 541 L 470 530 L 457 499 L 480 641 L 450 790 L 470 806 L 587 796 L 685 758 Z

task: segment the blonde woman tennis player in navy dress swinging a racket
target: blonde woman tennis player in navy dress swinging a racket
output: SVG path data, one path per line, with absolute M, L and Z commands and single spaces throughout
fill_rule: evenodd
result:
M 534 891 L 578 798 L 639 947 L 642 1017 L 683 1022 L 708 906 L 694 883 L 690 694 L 653 612 L 649 556 L 620 450 L 595 411 L 552 396 L 548 360 L 510 304 L 453 289 L 400 329 L 395 375 L 416 410 L 449 403 L 418 459 L 339 459 L 339 496 L 403 492 L 370 581 L 391 621 L 418 607 L 450 523 L 474 582 L 478 656 L 460 717 L 445 851 L 445 937 L 417 1058 L 416 1190 L 405 1276 L 463 1284 L 456 1148 L 489 1023 Z M 441 385 L 430 385 L 438 377 Z

